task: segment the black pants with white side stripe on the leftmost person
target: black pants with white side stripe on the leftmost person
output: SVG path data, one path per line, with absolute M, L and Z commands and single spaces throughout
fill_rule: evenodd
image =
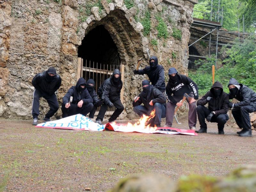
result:
M 43 97 L 48 102 L 50 110 L 46 113 L 45 118 L 50 118 L 56 113 L 59 109 L 59 102 L 55 94 L 49 95 L 47 93 L 42 93 L 38 89 L 34 91 L 33 105 L 32 105 L 32 116 L 37 118 L 39 115 L 39 99 Z

